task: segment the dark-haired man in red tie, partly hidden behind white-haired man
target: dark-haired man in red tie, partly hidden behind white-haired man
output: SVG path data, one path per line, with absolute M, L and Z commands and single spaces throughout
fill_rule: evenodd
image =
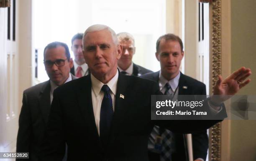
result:
M 71 50 L 74 53 L 74 67 L 71 68 L 70 72 L 77 78 L 90 73 L 84 60 L 82 38 L 83 34 L 77 33 L 71 40 Z

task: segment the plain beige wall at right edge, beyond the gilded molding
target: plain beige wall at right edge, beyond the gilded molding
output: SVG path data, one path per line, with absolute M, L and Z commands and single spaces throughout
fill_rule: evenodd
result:
M 239 94 L 256 95 L 256 1 L 231 0 L 231 70 L 252 69 L 252 82 Z M 256 160 L 256 120 L 231 121 L 231 161 Z

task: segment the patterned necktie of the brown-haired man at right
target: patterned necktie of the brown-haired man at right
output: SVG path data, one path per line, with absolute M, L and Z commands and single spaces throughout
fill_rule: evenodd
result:
M 171 88 L 170 84 L 167 82 L 165 84 L 165 95 L 171 95 L 172 93 L 169 92 Z M 171 155 L 172 155 L 172 151 L 174 150 L 174 141 L 173 141 L 173 134 L 172 131 L 169 131 L 167 129 L 161 129 L 159 131 L 162 131 L 162 149 L 161 149 L 161 157 L 160 157 L 160 161 L 172 161 L 171 159 Z

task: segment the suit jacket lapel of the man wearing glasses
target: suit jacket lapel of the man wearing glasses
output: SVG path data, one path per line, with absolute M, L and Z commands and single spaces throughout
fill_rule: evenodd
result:
M 51 97 L 50 97 L 50 80 L 45 82 L 45 84 L 42 86 L 40 95 L 39 95 L 39 107 L 41 109 L 44 122 L 47 124 L 48 116 L 50 114 L 51 109 Z

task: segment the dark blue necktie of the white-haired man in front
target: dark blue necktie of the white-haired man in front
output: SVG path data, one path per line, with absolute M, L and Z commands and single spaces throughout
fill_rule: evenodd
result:
M 104 92 L 104 97 L 100 108 L 100 140 L 102 145 L 106 147 L 108 145 L 110 126 L 114 111 L 110 88 L 108 85 L 104 84 L 101 90 Z

